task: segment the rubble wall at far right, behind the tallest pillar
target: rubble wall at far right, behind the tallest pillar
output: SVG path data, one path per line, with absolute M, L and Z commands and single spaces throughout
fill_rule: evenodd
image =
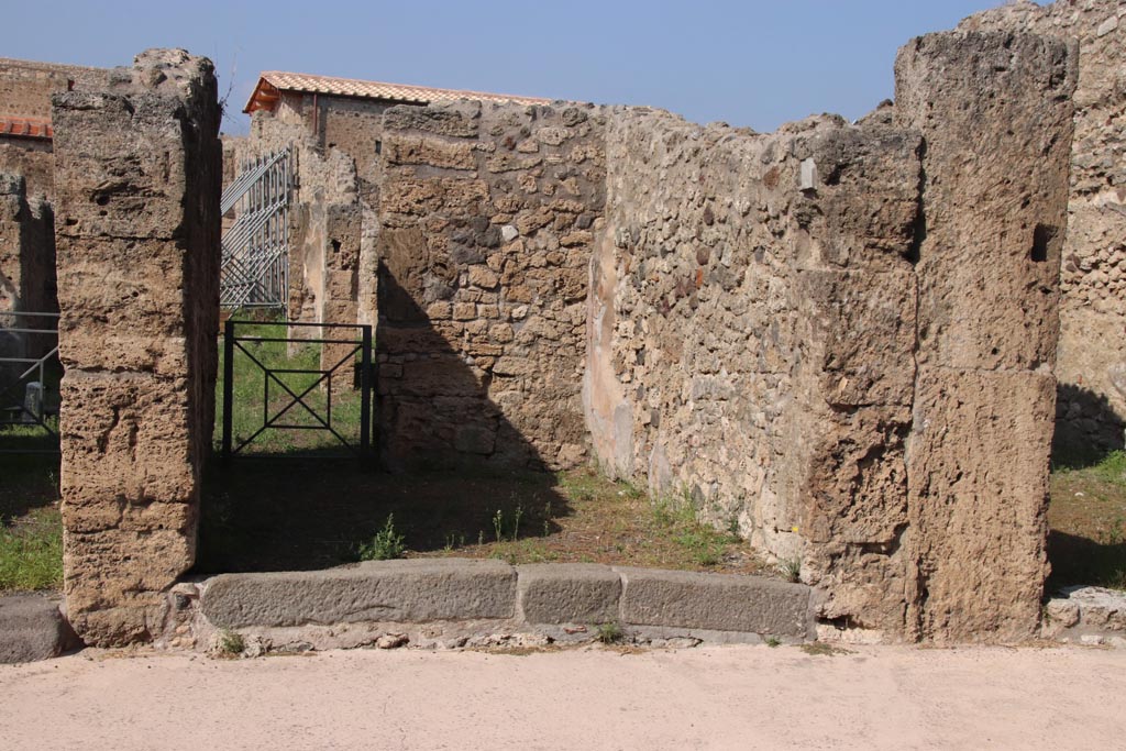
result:
M 1069 461 L 1123 447 L 1126 424 L 1126 6 L 1010 2 L 968 29 L 1078 38 L 1079 86 L 1064 240 L 1056 445 Z

